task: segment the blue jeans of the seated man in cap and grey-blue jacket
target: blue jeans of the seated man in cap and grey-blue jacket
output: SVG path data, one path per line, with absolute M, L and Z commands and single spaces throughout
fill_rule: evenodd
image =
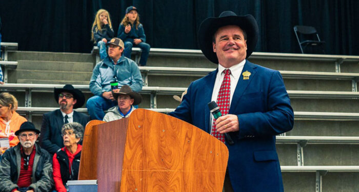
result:
M 105 117 L 104 111 L 116 105 L 116 101 L 111 101 L 102 96 L 95 95 L 87 100 L 86 108 L 92 120 L 97 119 L 102 121 Z

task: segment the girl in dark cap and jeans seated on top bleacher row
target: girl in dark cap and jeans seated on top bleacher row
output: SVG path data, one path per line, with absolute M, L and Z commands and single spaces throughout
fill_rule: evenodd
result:
M 130 6 L 126 9 L 126 15 L 118 27 L 117 37 L 125 43 L 124 55 L 131 58 L 132 46 L 142 50 L 138 66 L 146 66 L 150 45 L 146 44 L 144 28 L 139 23 L 137 8 Z

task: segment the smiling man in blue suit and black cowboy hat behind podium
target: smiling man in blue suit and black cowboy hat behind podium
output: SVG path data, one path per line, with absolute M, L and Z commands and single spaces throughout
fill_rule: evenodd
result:
M 247 60 L 257 36 L 252 15 L 225 11 L 205 19 L 198 31 L 200 47 L 218 68 L 193 81 L 170 114 L 225 142 L 229 150 L 225 191 L 283 191 L 275 135 L 293 128 L 293 109 L 280 72 Z M 210 101 L 218 103 L 222 117 L 213 120 Z

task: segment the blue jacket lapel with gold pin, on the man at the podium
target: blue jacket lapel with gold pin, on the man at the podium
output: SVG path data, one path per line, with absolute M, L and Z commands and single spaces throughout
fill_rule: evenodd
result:
M 244 65 L 244 67 L 243 67 L 240 79 L 238 79 L 237 86 L 236 86 L 236 88 L 234 90 L 231 106 L 230 106 L 230 109 L 229 109 L 229 114 L 233 114 L 233 110 L 236 109 L 236 107 L 238 105 L 238 101 L 242 97 L 244 91 L 246 91 L 249 83 L 254 78 L 255 73 L 256 73 L 255 68 L 256 68 L 255 65 L 253 65 L 251 62 L 246 60 L 246 63 Z M 243 72 L 245 72 L 245 71 L 248 71 L 248 72 L 251 73 L 251 75 L 249 76 L 249 79 L 243 79 Z

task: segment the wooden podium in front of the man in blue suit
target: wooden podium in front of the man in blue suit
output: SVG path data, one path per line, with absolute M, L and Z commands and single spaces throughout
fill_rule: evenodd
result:
M 98 191 L 222 191 L 228 149 L 169 115 L 137 109 L 129 118 L 86 125 L 79 180 Z

